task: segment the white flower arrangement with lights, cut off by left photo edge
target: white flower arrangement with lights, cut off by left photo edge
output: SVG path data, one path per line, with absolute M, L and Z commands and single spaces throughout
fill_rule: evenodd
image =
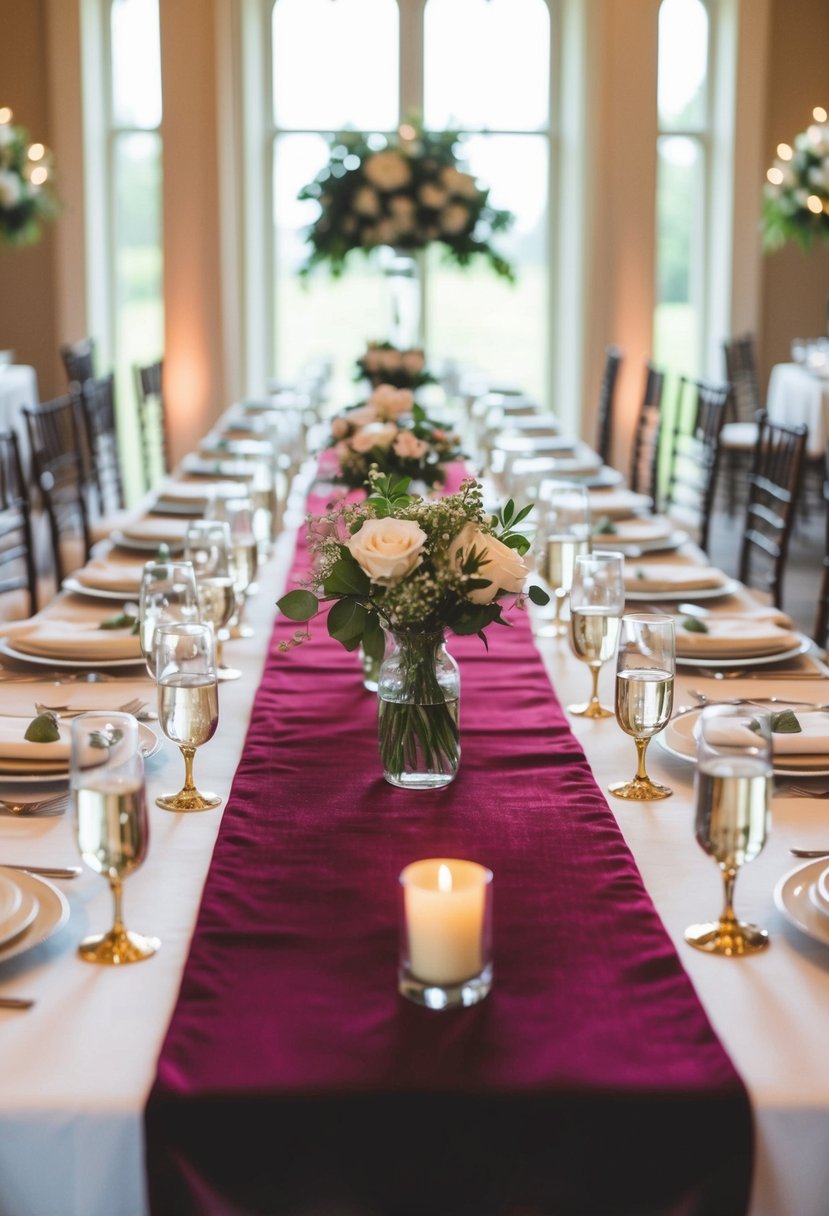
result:
M 12 125 L 12 112 L 0 108 L 0 244 L 34 244 L 44 220 L 57 215 L 51 188 L 51 154 L 43 143 L 30 143 L 22 126 Z

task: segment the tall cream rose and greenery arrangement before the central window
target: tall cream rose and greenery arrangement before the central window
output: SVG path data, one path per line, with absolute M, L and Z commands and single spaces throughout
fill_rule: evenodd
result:
M 439 242 L 458 265 L 483 257 L 512 280 L 512 266 L 491 241 L 513 215 L 492 207 L 489 190 L 461 168 L 459 140 L 457 131 L 423 131 L 408 123 L 390 136 L 333 136 L 328 164 L 299 192 L 320 207 L 300 274 L 327 264 L 337 277 L 353 249 L 424 249 Z

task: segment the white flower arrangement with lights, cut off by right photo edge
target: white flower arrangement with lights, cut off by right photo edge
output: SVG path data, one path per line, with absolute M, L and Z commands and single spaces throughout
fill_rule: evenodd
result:
M 829 241 L 829 124 L 825 111 L 795 136 L 794 147 L 778 145 L 778 156 L 766 174 L 763 192 L 763 248 L 779 249 L 795 241 L 811 249 Z

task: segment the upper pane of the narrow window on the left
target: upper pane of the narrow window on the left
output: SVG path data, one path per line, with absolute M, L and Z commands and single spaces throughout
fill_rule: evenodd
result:
M 162 120 L 158 0 L 113 0 L 111 18 L 113 120 L 156 128 Z

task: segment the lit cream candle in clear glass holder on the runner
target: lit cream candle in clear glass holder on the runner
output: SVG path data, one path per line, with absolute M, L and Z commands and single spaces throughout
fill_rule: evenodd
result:
M 492 986 L 492 871 L 429 857 L 400 874 L 401 996 L 428 1009 L 478 1004 Z

